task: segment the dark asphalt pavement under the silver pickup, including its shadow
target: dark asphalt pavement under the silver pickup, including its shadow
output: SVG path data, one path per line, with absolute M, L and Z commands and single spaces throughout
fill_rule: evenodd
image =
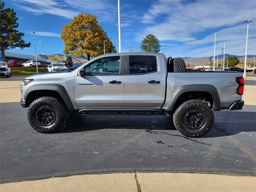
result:
M 255 175 L 255 106 L 214 112 L 202 138 L 182 136 L 168 115 L 73 115 L 58 133 L 40 134 L 19 103 L 1 103 L 0 114 L 1 183 L 134 170 Z

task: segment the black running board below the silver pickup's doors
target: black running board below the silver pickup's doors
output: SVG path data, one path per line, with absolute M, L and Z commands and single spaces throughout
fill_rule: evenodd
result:
M 166 115 L 165 112 L 157 109 L 81 109 L 78 114 L 152 114 Z

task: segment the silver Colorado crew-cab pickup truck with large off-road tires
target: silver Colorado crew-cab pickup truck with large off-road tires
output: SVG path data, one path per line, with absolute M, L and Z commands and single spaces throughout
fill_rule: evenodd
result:
M 74 71 L 29 76 L 21 88 L 21 105 L 41 133 L 62 128 L 69 113 L 169 114 L 183 135 L 200 137 L 214 124 L 213 110 L 244 105 L 241 72 L 186 72 L 182 58 L 161 53 L 105 54 Z

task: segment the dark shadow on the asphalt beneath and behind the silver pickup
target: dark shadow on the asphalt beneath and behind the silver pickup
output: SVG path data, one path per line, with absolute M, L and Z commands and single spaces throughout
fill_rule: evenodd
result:
M 212 130 L 202 138 L 223 137 L 241 132 L 256 132 L 255 112 L 221 111 L 216 114 Z M 181 135 L 173 124 L 172 116 L 169 115 L 71 115 L 66 127 L 58 130 L 57 133 L 100 129 L 138 129 L 149 133 L 155 133 L 152 130 L 171 130 L 173 134 Z M 163 134 L 165 133 L 166 131 L 163 132 Z

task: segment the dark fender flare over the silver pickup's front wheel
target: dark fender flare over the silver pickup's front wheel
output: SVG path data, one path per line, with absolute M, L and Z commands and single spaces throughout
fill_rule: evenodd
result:
M 71 99 L 68 95 L 68 92 L 66 91 L 64 86 L 62 86 L 60 84 L 36 84 L 36 85 L 32 85 L 26 90 L 26 92 L 24 94 L 24 99 L 26 100 L 26 97 L 28 96 L 28 94 L 30 92 L 37 91 L 37 90 L 53 90 L 53 91 L 56 91 L 58 94 L 60 94 L 60 96 L 64 100 L 68 110 L 69 111 L 74 111 L 75 110 L 74 106 L 71 102 Z

